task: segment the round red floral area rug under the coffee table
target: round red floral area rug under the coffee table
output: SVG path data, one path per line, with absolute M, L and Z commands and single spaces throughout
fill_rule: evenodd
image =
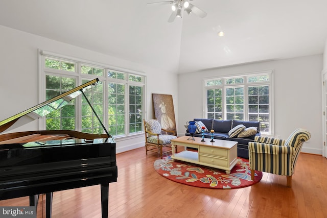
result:
M 172 160 L 170 156 L 158 159 L 153 164 L 156 172 L 172 181 L 202 188 L 243 188 L 262 179 L 262 172 L 255 171 L 254 181 L 247 159 L 238 158 L 229 175 L 217 168 Z

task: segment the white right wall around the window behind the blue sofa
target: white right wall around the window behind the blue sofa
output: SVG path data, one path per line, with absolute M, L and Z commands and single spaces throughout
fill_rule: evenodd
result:
M 302 152 L 322 154 L 321 70 L 323 56 L 314 55 L 217 68 L 178 76 L 178 134 L 186 121 L 203 117 L 202 80 L 273 70 L 274 134 L 286 139 L 296 128 L 306 128 L 311 139 Z

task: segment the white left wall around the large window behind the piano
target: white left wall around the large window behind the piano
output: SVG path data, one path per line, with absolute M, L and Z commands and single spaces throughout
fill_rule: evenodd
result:
M 147 75 L 146 118 L 154 118 L 151 93 L 172 94 L 177 119 L 177 75 L 0 26 L 0 120 L 39 104 L 38 50 L 144 72 Z M 15 132 L 38 130 L 33 122 Z M 144 146 L 144 134 L 116 138 L 117 153 Z

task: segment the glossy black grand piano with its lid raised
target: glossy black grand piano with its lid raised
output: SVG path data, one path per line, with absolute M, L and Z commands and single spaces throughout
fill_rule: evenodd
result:
M 30 206 L 36 206 L 38 196 L 45 194 L 45 214 L 51 217 L 54 191 L 100 184 L 102 217 L 108 217 L 109 183 L 118 177 L 116 144 L 84 93 L 98 82 L 91 80 L 0 122 L 0 200 L 29 196 Z M 106 134 L 72 130 L 3 134 L 63 107 L 80 94 Z

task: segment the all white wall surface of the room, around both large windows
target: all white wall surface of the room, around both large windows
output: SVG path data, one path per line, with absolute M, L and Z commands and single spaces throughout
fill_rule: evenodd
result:
M 194 117 L 202 117 L 202 79 L 272 69 L 274 72 L 275 135 L 282 138 L 297 127 L 307 128 L 312 137 L 302 152 L 321 154 L 321 70 L 327 68 L 322 55 L 244 64 L 174 75 L 117 59 L 73 45 L 0 26 L 0 120 L 38 104 L 38 49 L 65 56 L 109 64 L 147 74 L 146 118 L 153 118 L 152 93 L 172 94 L 178 134 Z M 325 54 L 327 48 L 325 48 Z M 178 82 L 177 82 L 178 78 Z M 178 93 L 178 95 L 177 95 Z M 290 95 L 291 94 L 291 95 Z M 37 122 L 17 131 L 37 130 Z M 144 134 L 116 139 L 117 152 L 144 146 Z

